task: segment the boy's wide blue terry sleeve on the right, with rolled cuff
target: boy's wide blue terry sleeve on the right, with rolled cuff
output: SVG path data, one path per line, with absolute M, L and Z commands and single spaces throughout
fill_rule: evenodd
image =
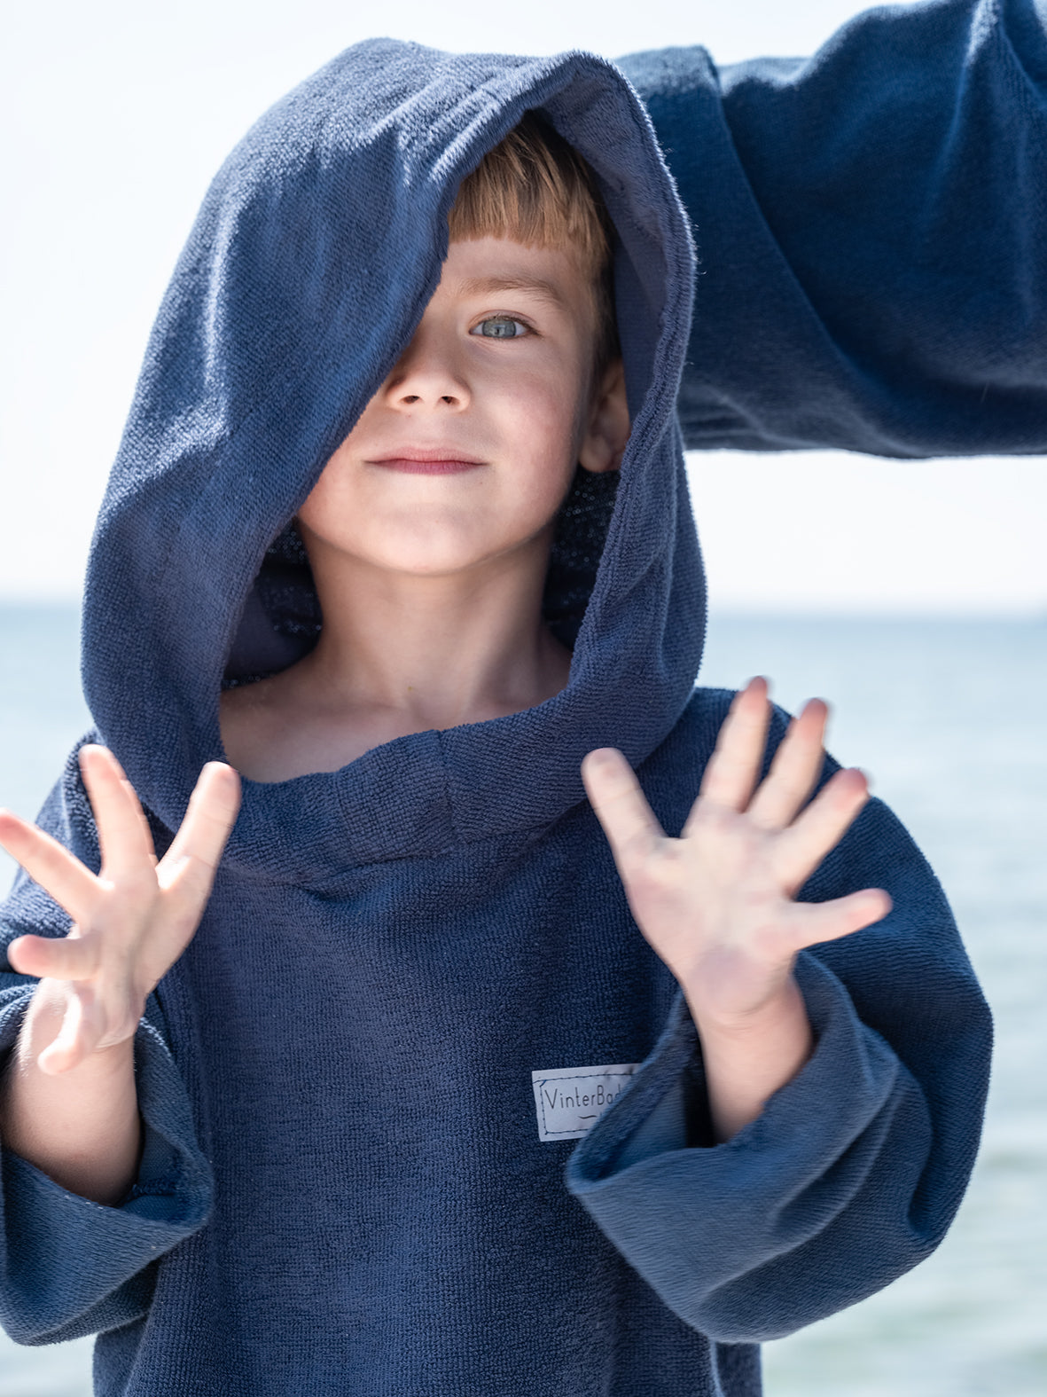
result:
M 695 1140 L 708 1106 L 680 996 L 567 1165 L 625 1259 L 722 1343 L 780 1338 L 916 1266 L 974 1162 L 988 1009 L 934 875 L 877 800 L 800 897 L 870 886 L 891 893 L 892 912 L 797 960 L 815 1051 L 754 1122 L 723 1144 Z

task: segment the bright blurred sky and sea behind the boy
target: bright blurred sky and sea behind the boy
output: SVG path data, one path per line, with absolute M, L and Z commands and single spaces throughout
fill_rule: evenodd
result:
M 0 54 L 0 800 L 32 816 L 88 718 L 78 595 L 145 338 L 204 190 L 288 88 L 374 35 L 617 57 L 702 43 L 805 54 L 849 0 L 71 0 L 20 7 Z M 838 708 L 938 872 L 998 1028 L 970 1193 L 938 1253 L 765 1348 L 769 1397 L 1047 1391 L 1047 460 L 690 458 L 711 588 L 701 680 L 771 675 Z M 754 510 L 752 502 L 759 506 Z M 0 888 L 11 863 L 0 862 Z M 0 1334 L 0 1397 L 87 1397 L 91 1341 Z

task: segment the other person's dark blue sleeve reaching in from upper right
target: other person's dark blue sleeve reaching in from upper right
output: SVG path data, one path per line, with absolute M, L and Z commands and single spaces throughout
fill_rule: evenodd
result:
M 618 60 L 697 240 L 688 448 L 1047 453 L 1046 15 L 930 0 L 807 60 Z

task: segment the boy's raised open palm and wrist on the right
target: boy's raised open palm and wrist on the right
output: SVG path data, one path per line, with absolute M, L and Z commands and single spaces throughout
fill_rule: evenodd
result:
M 822 767 L 825 704 L 794 718 L 771 771 L 771 708 L 754 679 L 732 704 L 680 838 L 666 837 L 620 752 L 591 752 L 582 780 L 637 923 L 684 989 L 702 1039 L 713 1123 L 727 1139 L 804 1063 L 811 1031 L 792 977 L 797 951 L 891 909 L 881 888 L 796 902 L 868 799 L 864 775 Z

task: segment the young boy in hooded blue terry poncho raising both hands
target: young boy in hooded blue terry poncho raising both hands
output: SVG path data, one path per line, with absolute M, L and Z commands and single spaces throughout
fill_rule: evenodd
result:
M 92 553 L 105 746 L 0 823 L 0 1313 L 98 1391 L 752 1394 L 953 1215 L 941 890 L 824 705 L 692 692 L 691 299 L 585 56 L 363 45 L 208 194 Z

